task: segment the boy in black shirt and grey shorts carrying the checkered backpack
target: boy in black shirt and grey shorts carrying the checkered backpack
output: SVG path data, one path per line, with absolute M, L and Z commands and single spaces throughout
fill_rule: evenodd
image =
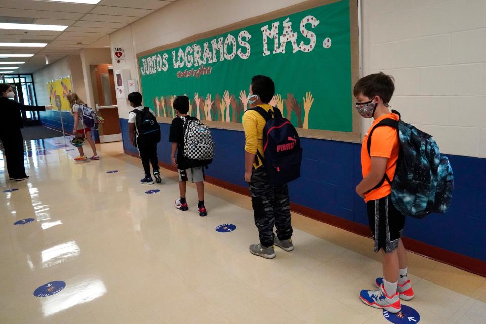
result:
M 187 115 L 189 111 L 189 98 L 187 96 L 179 96 L 174 100 L 174 110 L 177 117 L 174 118 L 171 124 L 169 133 L 169 142 L 172 142 L 172 165 L 179 170 L 179 191 L 180 198 L 176 199 L 175 206 L 181 211 L 189 209 L 186 201 L 186 181 L 194 182 L 197 187 L 197 195 L 199 197 L 199 204 L 197 206 L 200 216 L 206 216 L 207 211 L 204 206 L 204 172 L 203 167 L 189 167 L 187 166 L 186 158 L 184 157 L 184 123 L 186 120 L 195 119 Z M 176 155 L 177 151 L 177 155 Z

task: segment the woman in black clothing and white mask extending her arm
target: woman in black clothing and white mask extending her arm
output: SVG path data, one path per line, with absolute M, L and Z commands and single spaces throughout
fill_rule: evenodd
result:
M 0 140 L 4 144 L 4 156 L 10 180 L 28 179 L 24 166 L 24 139 L 21 129 L 24 127 L 20 111 L 46 111 L 52 106 L 25 106 L 11 100 L 15 97 L 11 85 L 0 83 Z

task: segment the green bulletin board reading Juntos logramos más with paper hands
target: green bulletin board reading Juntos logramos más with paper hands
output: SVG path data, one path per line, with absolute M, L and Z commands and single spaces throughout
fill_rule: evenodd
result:
M 293 6 L 273 19 L 139 54 L 144 104 L 169 121 L 175 96 L 185 94 L 191 115 L 211 127 L 231 128 L 249 108 L 252 76 L 263 74 L 275 82 L 271 104 L 312 137 L 358 131 L 350 1 L 304 6 L 311 3 L 317 7 Z

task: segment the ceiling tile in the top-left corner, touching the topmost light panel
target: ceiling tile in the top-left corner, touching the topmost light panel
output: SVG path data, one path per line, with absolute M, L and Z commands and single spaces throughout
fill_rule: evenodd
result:
M 95 5 L 35 0 L 2 0 L 2 8 L 88 13 Z

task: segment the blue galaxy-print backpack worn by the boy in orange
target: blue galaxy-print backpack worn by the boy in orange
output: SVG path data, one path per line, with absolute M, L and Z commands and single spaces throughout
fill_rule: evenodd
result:
M 398 111 L 392 112 L 400 116 Z M 413 125 L 404 123 L 401 116 L 399 121 L 383 119 L 373 127 L 368 136 L 369 155 L 371 135 L 380 126 L 397 129 L 400 153 L 393 181 L 385 173 L 382 181 L 373 189 L 388 181 L 391 185 L 392 203 L 403 215 L 424 218 L 430 213 L 445 213 L 451 203 L 454 176 L 449 159 L 440 156 L 434 138 Z

